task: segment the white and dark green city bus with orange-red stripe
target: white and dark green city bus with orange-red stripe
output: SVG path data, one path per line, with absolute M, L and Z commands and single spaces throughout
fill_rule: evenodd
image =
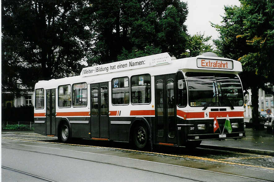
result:
M 168 53 L 83 68 L 35 85 L 35 132 L 71 138 L 196 147 L 245 137 L 239 61 Z M 229 118 L 232 131 L 224 129 Z M 219 129 L 214 132 L 215 123 Z

